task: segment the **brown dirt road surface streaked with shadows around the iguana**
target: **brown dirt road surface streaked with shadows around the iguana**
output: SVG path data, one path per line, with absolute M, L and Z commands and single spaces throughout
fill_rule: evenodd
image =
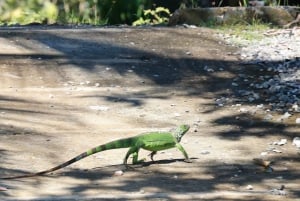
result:
M 257 71 L 241 65 L 212 30 L 2 28 L 0 43 L 1 176 L 44 170 L 113 139 L 181 123 L 192 126 L 182 145 L 193 159 L 185 163 L 170 149 L 155 163 L 114 176 L 126 150 L 111 150 L 50 176 L 0 180 L 8 189 L 1 200 L 300 196 L 299 155 L 291 143 L 299 127 L 216 106 L 222 96 L 238 103 L 232 79 Z M 288 140 L 276 147 L 281 153 L 261 156 L 281 138 Z M 253 158 L 274 161 L 274 171 L 264 172 Z M 286 195 L 274 195 L 282 185 Z

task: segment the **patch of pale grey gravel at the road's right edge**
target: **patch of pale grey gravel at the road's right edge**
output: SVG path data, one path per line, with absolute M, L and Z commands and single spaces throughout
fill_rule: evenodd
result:
M 253 65 L 261 72 L 258 76 L 241 73 L 233 79 L 233 86 L 242 85 L 243 89 L 237 88 L 241 101 L 261 102 L 265 110 L 281 112 L 278 121 L 300 112 L 300 29 L 282 30 L 267 34 L 263 40 L 251 41 L 219 35 L 226 43 L 241 47 L 237 54 L 243 64 Z M 269 121 L 273 117 L 267 112 L 264 119 Z M 296 123 L 300 124 L 300 119 Z

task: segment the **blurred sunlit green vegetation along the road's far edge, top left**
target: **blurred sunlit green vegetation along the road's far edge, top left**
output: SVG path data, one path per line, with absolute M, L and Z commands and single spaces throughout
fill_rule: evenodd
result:
M 2 0 L 0 24 L 131 24 L 149 0 Z

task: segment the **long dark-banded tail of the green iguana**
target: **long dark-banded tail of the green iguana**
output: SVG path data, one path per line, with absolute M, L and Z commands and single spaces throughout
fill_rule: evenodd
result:
M 78 156 L 58 165 L 53 168 L 50 168 L 48 170 L 36 172 L 36 173 L 31 173 L 31 174 L 25 174 L 25 175 L 20 175 L 20 176 L 13 176 L 13 177 L 1 177 L 0 179 L 19 179 L 19 178 L 27 178 L 27 177 L 35 177 L 35 176 L 41 176 L 50 172 L 54 172 L 56 170 L 62 169 L 68 165 L 71 165 L 72 163 L 75 163 L 83 158 L 86 158 L 90 155 L 93 155 L 95 153 L 105 151 L 105 150 L 110 150 L 110 149 L 119 149 L 119 148 L 127 148 L 132 146 L 133 141 L 135 138 L 126 138 L 126 139 L 120 139 L 120 140 L 115 140 L 106 144 L 99 145 L 97 147 L 94 147 L 86 152 L 83 152 L 79 154 Z

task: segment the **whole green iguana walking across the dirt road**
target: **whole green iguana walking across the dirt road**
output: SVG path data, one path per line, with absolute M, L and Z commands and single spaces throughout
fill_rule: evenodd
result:
M 133 159 L 132 163 L 136 164 L 139 162 L 142 162 L 143 160 L 138 160 L 138 152 L 139 150 L 145 149 L 148 151 L 152 151 L 150 156 L 151 160 L 153 161 L 153 156 L 156 154 L 157 151 L 177 147 L 182 154 L 184 155 L 185 159 L 189 161 L 189 157 L 184 150 L 184 148 L 179 144 L 182 136 L 189 130 L 190 126 L 188 125 L 180 125 L 173 131 L 169 132 L 148 132 L 144 134 L 140 134 L 134 137 L 119 139 L 115 141 L 111 141 L 106 144 L 99 145 L 97 147 L 94 147 L 93 149 L 90 149 L 86 152 L 83 152 L 82 154 L 79 154 L 78 156 L 72 158 L 71 160 L 68 160 L 67 162 L 64 162 L 56 167 L 50 168 L 45 171 L 32 173 L 32 174 L 26 174 L 26 175 L 20 175 L 20 176 L 14 176 L 14 177 L 3 177 L 0 179 L 17 179 L 17 178 L 26 178 L 26 177 L 34 177 L 34 176 L 40 176 L 44 175 L 56 170 L 59 170 L 61 168 L 64 168 L 72 163 L 75 163 L 85 157 L 88 157 L 92 154 L 110 150 L 110 149 L 119 149 L 119 148 L 128 148 L 129 150 L 124 158 L 123 164 L 127 166 L 127 160 L 129 156 L 132 154 Z

